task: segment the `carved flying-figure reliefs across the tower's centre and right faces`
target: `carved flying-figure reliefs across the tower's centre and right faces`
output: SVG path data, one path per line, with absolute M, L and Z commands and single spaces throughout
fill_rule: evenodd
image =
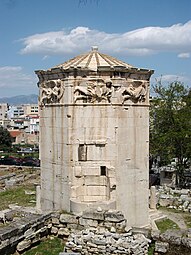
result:
M 124 104 L 130 100 L 133 103 L 145 102 L 148 94 L 147 81 L 123 81 L 121 84 L 112 84 L 111 80 L 102 82 L 80 82 L 74 89 L 74 103 L 83 100 L 87 103 L 113 103 Z

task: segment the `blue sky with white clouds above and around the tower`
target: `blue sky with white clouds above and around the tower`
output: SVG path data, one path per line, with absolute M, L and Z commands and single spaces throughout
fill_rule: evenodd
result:
M 190 0 L 0 0 L 0 98 L 38 94 L 47 70 L 98 46 L 151 86 L 191 87 Z

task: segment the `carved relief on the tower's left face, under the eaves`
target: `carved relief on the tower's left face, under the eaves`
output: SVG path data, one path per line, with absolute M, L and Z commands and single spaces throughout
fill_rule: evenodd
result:
M 61 80 L 49 80 L 40 84 L 40 106 L 59 103 L 64 94 L 64 86 Z

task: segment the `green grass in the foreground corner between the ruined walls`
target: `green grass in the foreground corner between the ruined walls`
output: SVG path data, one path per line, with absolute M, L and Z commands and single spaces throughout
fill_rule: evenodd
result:
M 23 255 L 58 255 L 64 250 L 64 242 L 58 237 L 50 237 Z

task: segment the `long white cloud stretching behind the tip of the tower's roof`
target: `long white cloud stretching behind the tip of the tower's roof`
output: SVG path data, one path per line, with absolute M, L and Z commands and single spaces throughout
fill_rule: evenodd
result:
M 125 33 L 106 33 L 88 27 L 35 34 L 21 39 L 21 54 L 73 54 L 98 45 L 101 51 L 126 55 L 191 52 L 191 21 L 169 27 L 144 27 Z M 186 52 L 186 53 L 182 53 Z

